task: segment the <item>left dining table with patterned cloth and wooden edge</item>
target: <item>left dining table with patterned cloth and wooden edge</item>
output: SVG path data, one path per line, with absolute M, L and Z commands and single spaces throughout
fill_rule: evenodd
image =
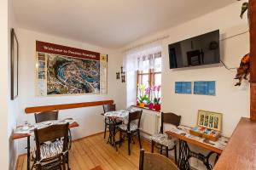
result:
M 28 124 L 26 126 L 18 126 L 16 127 L 12 139 L 25 139 L 27 141 L 27 146 L 26 146 L 26 155 L 27 155 L 27 161 L 26 161 L 26 169 L 30 169 L 30 151 L 31 151 L 31 143 L 30 139 L 31 137 L 34 137 L 34 129 L 35 128 L 44 128 L 44 127 L 49 127 L 51 125 L 55 124 L 63 124 L 69 122 L 69 128 L 73 127 L 79 127 L 79 123 L 73 120 L 72 118 L 67 118 L 64 120 L 55 120 L 55 121 L 46 121 L 46 122 L 39 122 L 35 124 Z

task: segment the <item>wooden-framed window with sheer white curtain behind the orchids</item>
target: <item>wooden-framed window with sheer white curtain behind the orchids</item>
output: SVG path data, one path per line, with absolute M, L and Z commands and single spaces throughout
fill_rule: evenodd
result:
M 144 55 L 137 58 L 137 84 L 143 85 L 144 88 L 150 88 L 148 93 L 148 102 L 154 103 L 154 98 L 160 99 L 160 91 L 155 96 L 154 87 L 161 85 L 161 52 Z M 141 96 L 140 88 L 137 87 L 137 98 Z M 147 102 L 147 103 L 148 103 Z

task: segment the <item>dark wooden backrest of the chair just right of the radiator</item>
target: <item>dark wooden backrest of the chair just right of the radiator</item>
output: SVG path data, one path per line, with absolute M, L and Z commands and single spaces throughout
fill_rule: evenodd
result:
M 177 116 L 174 113 L 168 112 L 164 113 L 161 112 L 161 127 L 160 127 L 160 133 L 163 133 L 164 131 L 164 123 L 169 123 L 175 126 L 180 125 L 181 116 Z

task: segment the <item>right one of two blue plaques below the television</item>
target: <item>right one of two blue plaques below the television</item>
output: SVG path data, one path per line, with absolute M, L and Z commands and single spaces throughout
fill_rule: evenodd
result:
M 194 82 L 194 94 L 215 95 L 215 81 Z

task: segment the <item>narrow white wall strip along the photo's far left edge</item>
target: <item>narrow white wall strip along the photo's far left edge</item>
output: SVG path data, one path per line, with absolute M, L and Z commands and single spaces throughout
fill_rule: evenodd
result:
M 8 0 L 0 1 L 0 164 L 1 169 L 9 168 L 8 135 Z

